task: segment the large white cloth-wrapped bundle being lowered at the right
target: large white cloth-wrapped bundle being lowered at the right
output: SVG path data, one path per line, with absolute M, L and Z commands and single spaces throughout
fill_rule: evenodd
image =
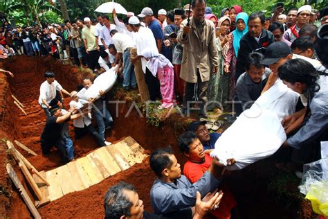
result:
M 298 96 L 278 79 L 221 134 L 210 155 L 224 165 L 234 158 L 236 163 L 228 170 L 240 170 L 273 155 L 286 141 L 281 121 L 295 112 Z

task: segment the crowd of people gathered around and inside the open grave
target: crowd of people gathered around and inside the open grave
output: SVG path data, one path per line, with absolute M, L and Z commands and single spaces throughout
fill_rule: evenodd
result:
M 178 139 L 188 158 L 184 175 L 170 148 L 158 149 L 149 158 L 158 177 L 150 191 L 156 215 L 143 211 L 134 186 L 120 183 L 105 195 L 106 218 L 201 218 L 212 209 L 213 216 L 230 218 L 236 202 L 222 182 L 225 169 L 209 155 L 220 134 L 206 128 L 207 112 L 228 107 L 238 116 L 263 94 L 277 95 L 276 90 L 284 90 L 282 97 L 275 97 L 280 101 L 275 104 L 287 107 L 274 113 L 288 137 L 282 146 L 293 148 L 291 161 L 302 165 L 320 159 L 320 142 L 328 139 L 328 80 L 327 63 L 320 63 L 314 45 L 320 38 L 318 28 L 328 26 L 327 7 L 320 12 L 309 5 L 285 11 L 277 5 L 272 17 L 265 17 L 264 12 L 248 15 L 241 6 L 232 6 L 215 15 L 205 0 L 194 0 L 183 8 L 158 10 L 157 18 L 148 7 L 138 16 L 128 12 L 120 19 L 115 10 L 112 15 L 112 21 L 97 15 L 96 20 L 85 17 L 43 28 L 12 29 L 7 22 L 0 31 L 1 58 L 16 53 L 51 54 L 95 73 L 119 65 L 127 91 L 138 87 L 134 64 L 140 60 L 150 100 L 161 100 L 161 108 L 166 109 L 179 105 L 184 114 L 199 109 L 199 121 L 190 123 L 188 132 Z M 133 58 L 132 48 L 137 49 Z M 39 96 L 47 117 L 42 152 L 55 146 L 64 162 L 74 159 L 70 120 L 76 139 L 89 132 L 99 146 L 110 145 L 104 132 L 113 119 L 103 104 L 104 92 L 100 91 L 98 100 L 86 101 L 86 107 L 78 105 L 77 94 L 91 87 L 91 78 L 69 92 L 55 80 L 55 73 L 44 76 Z M 62 107 L 64 94 L 75 101 L 69 110 Z M 91 123 L 91 108 L 98 131 Z M 233 157 L 227 161 L 228 165 L 234 162 Z M 200 200 L 217 188 L 224 191 L 223 198 L 215 192 Z

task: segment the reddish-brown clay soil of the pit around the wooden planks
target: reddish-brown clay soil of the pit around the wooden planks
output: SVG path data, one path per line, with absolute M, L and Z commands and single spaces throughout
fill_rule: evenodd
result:
M 81 73 L 75 67 L 64 66 L 62 63 L 53 60 L 53 58 L 18 56 L 11 60 L 6 60 L 6 62 L 0 62 L 0 64 L 1 68 L 15 73 L 15 78 L 8 78 L 5 74 L 0 73 L 0 104 L 2 106 L 0 138 L 6 138 L 10 141 L 16 139 L 35 151 L 38 154 L 36 157 L 28 155 L 27 152 L 18 148 L 37 170 L 49 170 L 62 165 L 55 150 L 51 152 L 51 155 L 44 156 L 39 146 L 39 136 L 46 121 L 43 110 L 37 104 L 39 86 L 45 80 L 43 76 L 45 71 L 54 71 L 56 74 L 55 79 L 67 91 L 75 90 L 77 85 L 82 82 L 82 78 L 90 77 L 91 75 L 87 71 Z M 116 98 L 124 99 L 124 94 L 116 95 L 117 91 L 115 89 L 109 92 L 107 98 L 110 100 Z M 27 116 L 14 105 L 12 94 L 23 103 L 24 109 L 28 114 Z M 64 105 L 67 106 L 68 103 L 69 98 L 65 98 Z M 129 102 L 121 104 L 116 113 L 116 106 L 109 105 L 114 123 L 111 130 L 106 132 L 107 141 L 116 142 L 130 135 L 149 152 L 167 145 L 176 146 L 174 120 L 167 121 L 160 128 L 154 128 L 154 126 L 146 123 L 145 118 L 140 118 L 136 110 L 132 110 L 129 116 L 126 117 L 130 107 L 131 103 Z M 70 125 L 70 132 L 71 137 L 74 139 L 72 124 Z M 90 136 L 74 141 L 74 146 L 76 158 L 82 157 L 91 150 L 98 148 Z M 30 191 L 30 188 L 25 183 L 24 176 L 21 175 L 21 170 L 17 168 L 15 161 L 11 160 L 11 157 L 6 154 L 6 148 L 6 143 L 1 142 L 1 163 L 6 164 L 6 162 L 10 162 L 15 167 L 16 173 L 26 190 Z M 178 159 L 184 163 L 185 158 L 178 151 L 178 148 L 174 147 L 174 151 Z M 137 164 L 128 170 L 105 179 L 100 184 L 91 186 L 89 189 L 65 195 L 63 198 L 46 204 L 38 210 L 44 218 L 101 218 L 104 216 L 102 208 L 104 193 L 109 186 L 123 180 L 136 186 L 140 198 L 144 200 L 145 209 L 151 211 L 149 190 L 154 179 L 155 175 L 149 168 L 149 162 L 145 161 L 145 163 Z M 5 166 L 0 167 L 0 185 L 3 191 L 8 192 L 8 195 L 0 194 L 0 218 L 29 218 L 30 213 L 23 200 L 21 200 L 17 189 L 15 189 L 8 175 L 6 175 Z M 31 198 L 34 197 L 33 193 L 29 193 L 29 195 Z M 90 209 L 93 209 L 93 211 L 90 211 Z

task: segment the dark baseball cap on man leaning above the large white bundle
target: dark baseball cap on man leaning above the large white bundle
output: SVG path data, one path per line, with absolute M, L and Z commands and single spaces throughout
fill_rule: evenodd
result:
M 289 54 L 291 54 L 291 49 L 285 42 L 274 42 L 266 49 L 264 60 L 261 61 L 261 64 L 274 64 Z

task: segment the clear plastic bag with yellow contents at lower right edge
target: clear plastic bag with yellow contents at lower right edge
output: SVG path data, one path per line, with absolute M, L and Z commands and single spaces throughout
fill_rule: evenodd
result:
M 304 164 L 303 173 L 300 192 L 311 201 L 314 212 L 328 217 L 328 157 Z

